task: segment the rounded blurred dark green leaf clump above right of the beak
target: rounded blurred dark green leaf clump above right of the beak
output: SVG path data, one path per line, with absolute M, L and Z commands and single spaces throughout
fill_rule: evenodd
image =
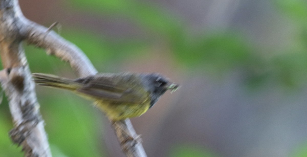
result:
M 181 40 L 175 42 L 173 48 L 181 63 L 192 67 L 228 69 L 246 62 L 251 53 L 247 42 L 234 33 L 216 33 L 200 39 Z

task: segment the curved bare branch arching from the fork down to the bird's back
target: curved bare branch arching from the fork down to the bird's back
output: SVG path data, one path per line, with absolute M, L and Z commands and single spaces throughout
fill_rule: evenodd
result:
M 28 20 L 25 23 L 25 38 L 29 44 L 46 49 L 47 54 L 55 55 L 69 62 L 77 76 L 95 75 L 97 70 L 87 56 L 76 45 L 68 42 L 54 31 Z

